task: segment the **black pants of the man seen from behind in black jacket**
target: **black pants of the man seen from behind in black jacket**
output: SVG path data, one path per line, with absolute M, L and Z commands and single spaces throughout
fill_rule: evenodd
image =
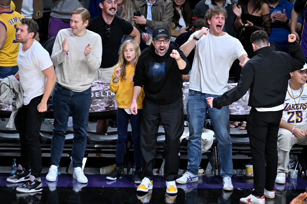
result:
M 277 174 L 277 134 L 282 110 L 260 112 L 251 109 L 247 117 L 247 134 L 251 144 L 254 170 L 254 196 L 262 196 L 264 188 L 274 190 Z

